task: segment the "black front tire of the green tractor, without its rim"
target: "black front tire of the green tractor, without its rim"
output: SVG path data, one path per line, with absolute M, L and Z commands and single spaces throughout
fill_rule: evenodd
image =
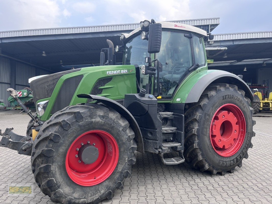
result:
M 111 134 L 119 149 L 119 159 L 113 173 L 94 186 L 81 186 L 68 176 L 65 167 L 67 150 L 84 132 L 103 130 Z M 98 203 L 111 199 L 117 189 L 123 189 L 135 164 L 137 146 L 128 121 L 115 110 L 97 105 L 68 106 L 47 120 L 34 140 L 31 164 L 35 181 L 53 202 Z

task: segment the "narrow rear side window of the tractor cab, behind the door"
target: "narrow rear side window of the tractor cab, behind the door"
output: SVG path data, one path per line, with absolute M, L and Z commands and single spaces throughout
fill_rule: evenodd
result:
M 202 38 L 193 35 L 193 52 L 195 57 L 195 63 L 200 67 L 205 65 L 205 54 L 203 50 Z

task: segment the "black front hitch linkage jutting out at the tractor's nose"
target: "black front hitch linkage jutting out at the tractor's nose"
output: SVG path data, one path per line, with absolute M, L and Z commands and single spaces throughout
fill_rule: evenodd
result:
M 13 128 L 7 128 L 3 134 L 0 130 L 0 135 L 2 136 L 0 147 L 7 147 L 9 149 L 17 150 L 18 154 L 30 156 L 33 145 L 32 138 L 17 135 L 11 130 L 13 130 Z

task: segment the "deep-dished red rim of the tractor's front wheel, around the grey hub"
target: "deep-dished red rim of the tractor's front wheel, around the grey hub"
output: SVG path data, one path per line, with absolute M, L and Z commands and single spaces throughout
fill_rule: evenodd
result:
M 82 147 L 82 143 L 91 144 L 99 152 L 97 159 L 91 164 L 79 163 L 78 149 Z M 67 174 L 75 183 L 81 186 L 94 186 L 112 174 L 118 158 L 119 149 L 114 137 L 102 130 L 92 130 L 73 141 L 66 155 L 65 167 Z

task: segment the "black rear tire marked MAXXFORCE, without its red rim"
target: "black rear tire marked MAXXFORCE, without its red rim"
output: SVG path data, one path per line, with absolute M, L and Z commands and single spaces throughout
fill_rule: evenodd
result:
M 230 95 L 231 97 L 225 97 Z M 232 97 L 233 96 L 233 97 Z M 253 109 L 248 104 L 245 92 L 235 85 L 211 84 L 205 89 L 197 103 L 187 104 L 185 110 L 184 157 L 188 164 L 212 175 L 227 171 L 233 173 L 236 166 L 242 166 L 242 159 L 248 158 L 252 148 L 251 138 L 255 136 L 252 120 Z M 234 104 L 242 111 L 246 133 L 242 146 L 232 156 L 224 157 L 215 152 L 210 139 L 210 125 L 217 110 L 224 104 Z

